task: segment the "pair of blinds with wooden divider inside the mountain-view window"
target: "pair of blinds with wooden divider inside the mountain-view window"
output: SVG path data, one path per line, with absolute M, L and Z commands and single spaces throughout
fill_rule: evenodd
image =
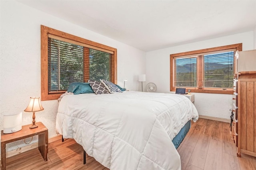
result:
M 232 88 L 235 51 L 177 57 L 174 59 L 175 87 Z

